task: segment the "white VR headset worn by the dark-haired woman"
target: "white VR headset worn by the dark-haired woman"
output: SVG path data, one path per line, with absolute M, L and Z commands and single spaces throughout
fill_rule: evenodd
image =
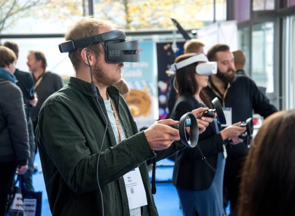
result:
M 166 74 L 173 75 L 175 72 L 183 68 L 185 66 L 188 66 L 190 64 L 193 64 L 195 62 L 204 62 L 200 63 L 196 66 L 196 73 L 199 75 L 211 75 L 217 73 L 217 62 L 216 61 L 208 61 L 207 57 L 203 53 L 199 53 L 196 55 L 193 55 L 187 59 L 184 59 L 182 61 L 179 61 L 177 63 L 174 63 L 170 66 L 169 73 L 166 71 Z

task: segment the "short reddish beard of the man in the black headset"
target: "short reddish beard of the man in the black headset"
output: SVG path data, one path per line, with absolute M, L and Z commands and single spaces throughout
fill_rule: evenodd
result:
M 98 63 L 92 66 L 92 71 L 94 80 L 100 84 L 103 84 L 104 86 L 114 85 L 121 79 L 121 77 L 115 79 L 114 77 L 108 75 L 108 72 Z

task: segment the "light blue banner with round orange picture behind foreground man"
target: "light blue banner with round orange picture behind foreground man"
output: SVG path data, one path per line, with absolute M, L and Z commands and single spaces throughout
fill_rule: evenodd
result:
M 156 53 L 152 41 L 140 42 L 140 62 L 124 62 L 122 78 L 131 89 L 126 102 L 138 129 L 144 129 L 155 121 L 157 111 Z

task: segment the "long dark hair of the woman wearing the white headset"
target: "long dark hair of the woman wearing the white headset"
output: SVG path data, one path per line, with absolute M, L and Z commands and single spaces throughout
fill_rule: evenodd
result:
M 189 54 L 179 55 L 175 59 L 175 63 L 177 63 L 179 61 L 183 61 L 184 59 L 187 59 L 187 58 L 192 57 L 194 55 L 196 55 L 196 54 L 189 53 Z M 177 97 L 179 95 L 181 95 L 183 92 L 189 92 L 192 95 L 197 93 L 197 91 L 199 89 L 199 85 L 196 81 L 195 75 L 196 75 L 196 66 L 198 65 L 198 63 L 199 62 L 195 62 L 193 64 L 187 65 L 187 66 L 177 70 L 176 77 L 175 77 L 176 88 L 178 91 Z M 200 97 L 206 106 L 211 106 L 209 98 L 207 97 L 205 92 L 202 91 L 202 93 L 200 93 Z

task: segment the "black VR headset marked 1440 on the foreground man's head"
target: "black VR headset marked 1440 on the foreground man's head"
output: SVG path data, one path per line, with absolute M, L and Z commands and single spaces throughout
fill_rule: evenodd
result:
M 108 63 L 139 62 L 138 40 L 125 41 L 125 39 L 124 31 L 117 29 L 75 41 L 66 41 L 59 44 L 59 51 L 60 53 L 70 53 L 78 48 L 88 47 L 89 44 L 100 43 L 104 47 L 106 62 Z

